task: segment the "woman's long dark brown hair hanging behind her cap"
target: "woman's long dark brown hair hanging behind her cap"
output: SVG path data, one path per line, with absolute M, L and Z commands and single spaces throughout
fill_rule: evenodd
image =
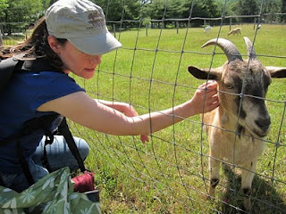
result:
M 19 45 L 15 45 L 10 48 L 6 48 L 0 53 L 0 58 L 5 59 L 12 57 L 15 54 L 25 53 L 25 56 L 21 60 L 45 58 L 50 62 L 56 69 L 62 69 L 63 62 L 58 55 L 48 45 L 47 37 L 49 36 L 46 29 L 46 18 L 43 17 L 38 21 L 35 29 L 31 36 L 23 41 Z M 57 38 L 59 44 L 64 45 L 67 41 L 65 38 Z

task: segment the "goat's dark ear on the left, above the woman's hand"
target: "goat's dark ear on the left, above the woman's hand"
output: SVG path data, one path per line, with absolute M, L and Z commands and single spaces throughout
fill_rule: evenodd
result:
M 198 69 L 194 66 L 189 66 L 188 68 L 189 73 L 198 79 L 221 79 L 221 75 L 216 70 L 209 70 L 209 69 Z

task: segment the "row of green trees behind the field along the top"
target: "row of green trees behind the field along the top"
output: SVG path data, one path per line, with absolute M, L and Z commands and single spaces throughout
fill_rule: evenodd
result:
M 56 0 L 0 0 L 0 23 L 29 27 L 45 14 L 46 8 Z M 132 27 L 132 21 L 151 24 L 152 21 L 188 19 L 191 17 L 217 18 L 234 15 L 268 14 L 262 21 L 283 21 L 286 16 L 275 13 L 286 12 L 286 0 L 92 0 L 105 12 L 106 21 L 122 21 Z M 262 9 L 262 11 L 261 11 Z M 233 18 L 232 21 L 252 22 L 254 17 Z M 128 22 L 130 21 L 130 22 Z M 121 22 L 122 23 L 122 22 Z M 164 21 L 166 24 L 173 21 Z M 202 25 L 202 21 L 191 21 Z M 21 25 L 21 24 L 20 24 Z M 9 29 L 9 28 L 8 28 Z M 10 28 L 11 29 L 11 28 Z M 7 31 L 7 29 L 4 29 Z

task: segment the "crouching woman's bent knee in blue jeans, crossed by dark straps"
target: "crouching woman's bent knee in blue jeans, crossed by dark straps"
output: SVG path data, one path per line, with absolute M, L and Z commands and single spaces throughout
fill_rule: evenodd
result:
M 88 144 L 85 140 L 79 137 L 73 138 L 79 149 L 80 156 L 84 161 L 88 157 Z M 40 166 L 43 166 L 42 160 L 44 157 L 44 146 L 45 137 L 43 137 L 41 140 L 41 143 L 38 145 L 37 150 L 32 157 L 33 161 L 35 161 L 35 163 Z M 79 164 L 72 155 L 63 136 L 55 136 L 53 144 L 46 145 L 46 157 L 51 171 L 55 171 L 64 167 L 69 167 L 71 171 L 79 169 Z

